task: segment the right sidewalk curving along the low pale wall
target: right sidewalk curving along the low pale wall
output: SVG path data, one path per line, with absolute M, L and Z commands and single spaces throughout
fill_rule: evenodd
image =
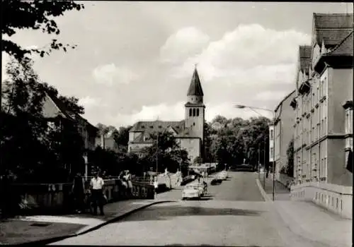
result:
M 263 177 L 261 176 L 263 186 Z M 264 193 L 265 192 L 265 193 Z M 261 192 L 262 193 L 262 192 Z M 278 215 L 292 232 L 326 246 L 351 246 L 352 221 L 329 212 L 312 202 L 290 199 L 290 191 L 281 183 L 275 183 L 275 201 L 272 201 L 273 181 L 265 180 L 262 195 L 274 205 Z

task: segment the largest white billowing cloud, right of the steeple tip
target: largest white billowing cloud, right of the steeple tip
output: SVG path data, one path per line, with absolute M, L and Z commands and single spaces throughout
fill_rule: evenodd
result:
M 175 36 L 172 35 L 169 42 L 173 42 L 171 39 Z M 172 75 L 175 78 L 189 76 L 193 64 L 198 63 L 198 71 L 205 82 L 226 78 L 249 86 L 292 83 L 298 47 L 309 42 L 309 35 L 295 30 L 277 31 L 258 24 L 239 25 L 220 40 L 209 42 L 206 47 L 203 44 L 202 52 L 175 66 Z M 182 44 L 188 45 L 187 42 Z M 164 56 L 166 59 L 167 54 Z M 176 56 L 171 54 L 171 59 Z

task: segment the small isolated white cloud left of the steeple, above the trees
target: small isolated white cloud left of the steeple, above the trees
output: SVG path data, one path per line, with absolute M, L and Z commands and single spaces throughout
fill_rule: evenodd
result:
M 93 69 L 93 78 L 96 83 L 103 85 L 130 84 L 137 80 L 138 76 L 125 66 L 105 64 Z

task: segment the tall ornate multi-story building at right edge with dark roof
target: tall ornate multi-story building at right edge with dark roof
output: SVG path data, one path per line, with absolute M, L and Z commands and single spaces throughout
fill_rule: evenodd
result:
M 314 13 L 299 55 L 292 195 L 352 217 L 353 14 Z

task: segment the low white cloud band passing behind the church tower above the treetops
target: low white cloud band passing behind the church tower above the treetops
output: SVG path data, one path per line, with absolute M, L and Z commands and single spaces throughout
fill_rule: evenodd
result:
M 266 111 L 258 111 L 262 116 L 271 118 L 271 114 Z M 236 109 L 233 102 L 224 102 L 222 104 L 206 104 L 205 119 L 212 121 L 217 115 L 227 118 L 241 117 L 249 119 L 251 116 L 259 116 L 249 109 Z M 143 106 L 139 111 L 132 114 L 117 114 L 113 118 L 107 119 L 108 122 L 116 126 L 127 126 L 137 121 L 155 121 L 159 118 L 161 121 L 181 121 L 185 116 L 184 102 L 176 104 L 155 104 Z

